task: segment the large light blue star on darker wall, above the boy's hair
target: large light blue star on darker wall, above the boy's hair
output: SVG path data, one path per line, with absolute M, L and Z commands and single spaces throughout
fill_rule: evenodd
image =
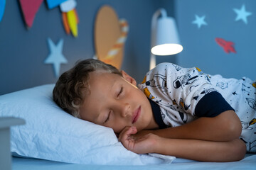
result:
M 68 61 L 62 54 L 63 50 L 63 39 L 60 39 L 58 44 L 55 45 L 50 38 L 48 38 L 48 45 L 50 47 L 50 55 L 48 55 L 45 60 L 45 64 L 53 64 L 53 69 L 55 72 L 55 77 L 59 76 L 60 64 L 66 64 Z

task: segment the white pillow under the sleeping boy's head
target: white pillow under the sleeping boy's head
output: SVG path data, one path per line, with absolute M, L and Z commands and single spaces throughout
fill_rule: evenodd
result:
M 53 101 L 53 87 L 54 84 L 47 84 L 0 96 L 0 117 L 26 120 L 26 125 L 11 128 L 13 154 L 74 164 L 162 162 L 156 157 L 128 151 L 112 129 L 65 113 Z

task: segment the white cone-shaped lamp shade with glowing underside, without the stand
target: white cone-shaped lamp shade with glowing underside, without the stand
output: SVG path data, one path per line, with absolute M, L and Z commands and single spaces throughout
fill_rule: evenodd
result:
M 152 42 L 151 52 L 154 55 L 175 55 L 182 50 L 174 18 L 159 18 L 156 23 L 155 40 Z

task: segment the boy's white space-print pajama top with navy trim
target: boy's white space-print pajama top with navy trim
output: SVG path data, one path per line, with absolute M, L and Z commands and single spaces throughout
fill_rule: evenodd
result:
M 160 107 L 161 120 L 168 127 L 234 110 L 242 123 L 240 139 L 248 152 L 256 152 L 256 82 L 245 77 L 225 79 L 204 74 L 197 67 L 161 63 L 138 86 Z

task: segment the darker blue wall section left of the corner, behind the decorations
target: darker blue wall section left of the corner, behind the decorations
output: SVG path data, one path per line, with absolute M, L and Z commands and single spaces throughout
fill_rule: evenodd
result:
M 63 55 L 68 64 L 61 64 L 60 74 L 80 59 L 95 55 L 93 28 L 95 16 L 102 5 L 114 8 L 119 18 L 129 23 L 129 35 L 124 50 L 122 69 L 137 81 L 142 81 L 149 70 L 151 17 L 158 8 L 174 14 L 174 1 L 162 0 L 77 0 L 78 38 L 66 35 L 60 9 L 48 9 L 43 2 L 32 28 L 27 29 L 19 1 L 6 1 L 0 22 L 0 95 L 57 81 L 52 64 L 43 64 L 50 51 L 47 38 L 55 44 L 63 38 Z M 174 58 L 169 58 L 174 62 Z

